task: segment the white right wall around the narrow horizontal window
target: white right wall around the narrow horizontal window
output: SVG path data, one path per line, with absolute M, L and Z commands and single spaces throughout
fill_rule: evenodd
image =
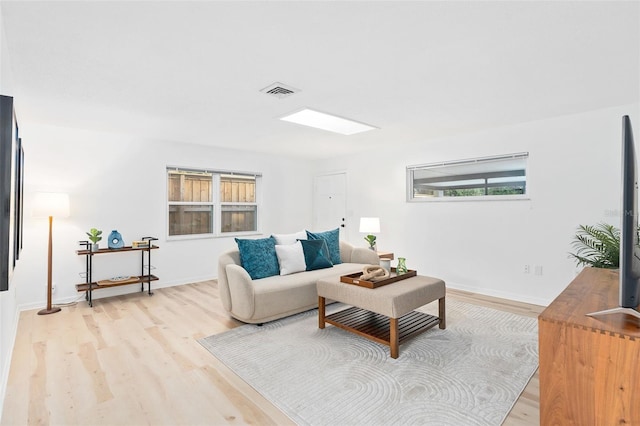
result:
M 638 104 L 319 161 L 348 173 L 348 216 L 378 216 L 380 250 L 449 287 L 549 304 L 575 276 L 578 224 L 619 226 L 621 116 L 640 141 Z M 408 165 L 529 152 L 528 201 L 407 203 Z M 363 165 L 366 164 L 366 167 Z M 375 170 L 375 171 L 372 171 Z M 357 226 L 347 238 L 365 246 Z M 531 266 L 525 274 L 524 265 Z M 535 275 L 535 266 L 542 275 Z

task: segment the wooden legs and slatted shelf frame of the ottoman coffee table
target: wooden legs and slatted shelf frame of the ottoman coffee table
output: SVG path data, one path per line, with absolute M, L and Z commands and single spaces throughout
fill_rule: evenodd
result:
M 367 311 L 358 307 L 326 315 L 326 300 L 318 297 L 318 327 L 331 324 L 374 342 L 389 346 L 391 358 L 398 358 L 400 344 L 423 331 L 438 325 L 446 328 L 445 298 L 438 299 L 438 317 L 422 312 L 411 311 L 400 318 L 389 318 L 385 315 Z

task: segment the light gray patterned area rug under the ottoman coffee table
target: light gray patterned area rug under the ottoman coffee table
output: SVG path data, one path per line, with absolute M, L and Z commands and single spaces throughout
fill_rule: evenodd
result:
M 437 315 L 432 305 L 421 310 Z M 407 341 L 398 359 L 331 325 L 320 330 L 317 310 L 200 343 L 300 425 L 494 426 L 538 366 L 537 336 L 535 318 L 447 301 L 447 329 Z

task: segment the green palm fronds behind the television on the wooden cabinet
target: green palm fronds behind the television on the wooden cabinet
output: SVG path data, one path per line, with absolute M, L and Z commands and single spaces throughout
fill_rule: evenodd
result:
M 620 230 L 613 225 L 579 225 L 571 246 L 576 252 L 569 257 L 577 265 L 607 269 L 620 266 Z

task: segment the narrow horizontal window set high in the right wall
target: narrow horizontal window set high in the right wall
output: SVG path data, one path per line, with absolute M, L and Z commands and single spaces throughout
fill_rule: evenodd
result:
M 517 199 L 527 194 L 529 153 L 407 167 L 407 200 Z

